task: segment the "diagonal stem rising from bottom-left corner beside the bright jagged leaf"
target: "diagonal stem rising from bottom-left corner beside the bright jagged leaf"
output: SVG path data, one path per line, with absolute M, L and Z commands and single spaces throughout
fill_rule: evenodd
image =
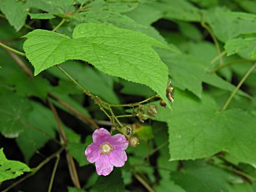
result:
M 53 158 L 55 158 L 57 155 L 60 155 L 61 152 L 64 150 L 64 146 L 61 147 L 61 149 L 57 150 L 56 153 L 53 153 L 52 155 L 50 155 L 48 158 L 45 158 L 44 161 L 42 161 L 37 167 L 35 167 L 34 169 L 32 169 L 33 172 L 31 172 L 30 174 L 27 174 L 25 177 L 22 177 L 20 180 L 16 181 L 15 183 L 12 183 L 12 185 L 10 185 L 9 187 L 5 188 L 4 191 L 2 192 L 7 192 L 9 191 L 11 188 L 15 187 L 16 185 L 18 185 L 19 183 L 23 182 L 24 180 L 28 179 L 29 177 L 33 176 L 34 174 L 36 174 L 40 169 L 42 169 L 43 166 L 45 166 L 45 164 L 48 164 L 48 162 L 50 160 L 52 160 Z

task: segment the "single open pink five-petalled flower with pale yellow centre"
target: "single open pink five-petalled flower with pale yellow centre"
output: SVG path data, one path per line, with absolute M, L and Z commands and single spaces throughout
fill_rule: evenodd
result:
M 111 136 L 105 128 L 99 128 L 92 134 L 93 143 L 86 148 L 87 161 L 95 162 L 99 175 L 108 175 L 113 171 L 113 166 L 124 166 L 127 161 L 127 149 L 129 141 L 123 134 Z

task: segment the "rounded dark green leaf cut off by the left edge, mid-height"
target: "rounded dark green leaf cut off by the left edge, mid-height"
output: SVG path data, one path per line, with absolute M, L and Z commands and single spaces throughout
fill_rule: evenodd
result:
M 12 91 L 0 93 L 0 131 L 4 137 L 15 138 L 23 131 L 31 112 L 31 104 Z

